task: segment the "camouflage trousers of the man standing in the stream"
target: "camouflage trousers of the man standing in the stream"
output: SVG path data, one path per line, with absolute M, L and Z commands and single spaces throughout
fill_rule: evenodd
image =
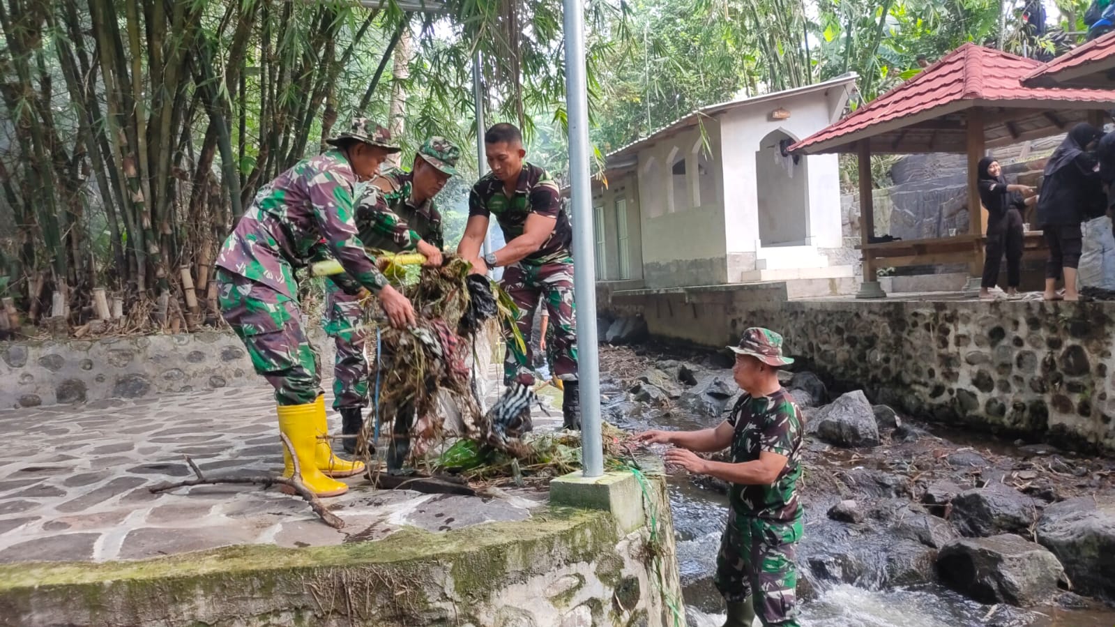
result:
M 737 517 L 729 509 L 716 558 L 716 588 L 728 602 L 741 602 L 754 594 L 755 615 L 763 625 L 797 627 L 794 551 L 801 539 L 801 519 L 774 522 Z

